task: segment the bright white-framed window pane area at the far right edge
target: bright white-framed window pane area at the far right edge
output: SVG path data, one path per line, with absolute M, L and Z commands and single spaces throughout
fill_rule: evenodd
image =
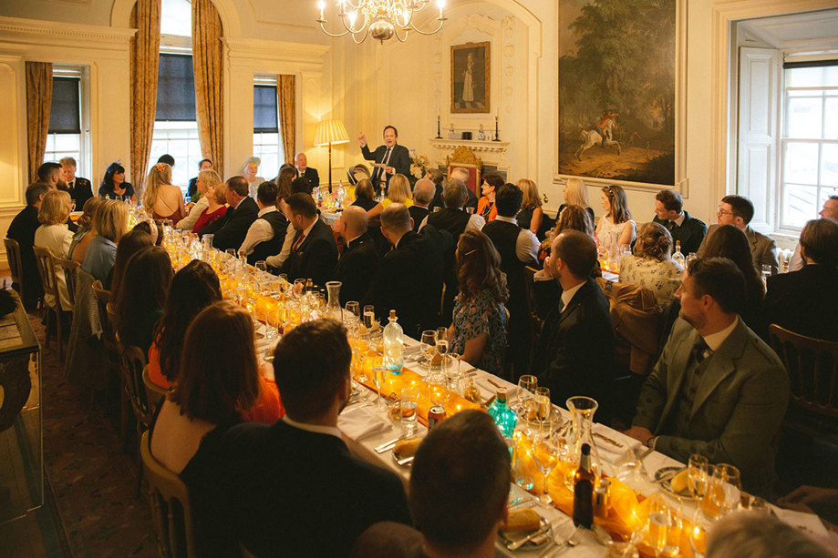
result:
M 800 229 L 838 194 L 838 60 L 783 65 L 780 228 Z

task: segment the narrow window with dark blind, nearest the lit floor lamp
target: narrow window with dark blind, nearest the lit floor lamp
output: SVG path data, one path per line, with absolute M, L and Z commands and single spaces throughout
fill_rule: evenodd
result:
M 262 159 L 260 176 L 273 178 L 285 162 L 279 140 L 276 76 L 257 76 L 253 84 L 253 155 Z

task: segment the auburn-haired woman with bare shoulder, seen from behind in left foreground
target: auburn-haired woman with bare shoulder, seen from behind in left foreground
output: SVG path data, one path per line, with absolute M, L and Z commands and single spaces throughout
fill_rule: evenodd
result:
M 202 544 L 222 528 L 211 475 L 222 458 L 222 435 L 242 421 L 242 411 L 259 395 L 254 341 L 246 310 L 223 300 L 203 309 L 186 330 L 177 381 L 151 425 L 151 454 L 189 489 L 199 556 L 218 550 Z

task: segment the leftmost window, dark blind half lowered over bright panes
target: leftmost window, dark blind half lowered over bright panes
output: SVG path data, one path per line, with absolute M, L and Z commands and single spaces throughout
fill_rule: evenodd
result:
M 81 72 L 57 67 L 53 70 L 52 104 L 45 161 L 62 157 L 76 159 L 78 174 L 85 170 L 81 140 Z

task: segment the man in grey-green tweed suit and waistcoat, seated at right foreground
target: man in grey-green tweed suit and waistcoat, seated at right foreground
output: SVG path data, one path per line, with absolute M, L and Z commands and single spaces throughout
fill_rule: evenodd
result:
M 771 441 L 789 404 L 789 376 L 737 316 L 745 278 L 729 259 L 699 258 L 676 296 L 680 318 L 626 434 L 679 461 L 699 453 L 711 463 L 731 463 L 745 490 L 767 497 L 775 476 Z

